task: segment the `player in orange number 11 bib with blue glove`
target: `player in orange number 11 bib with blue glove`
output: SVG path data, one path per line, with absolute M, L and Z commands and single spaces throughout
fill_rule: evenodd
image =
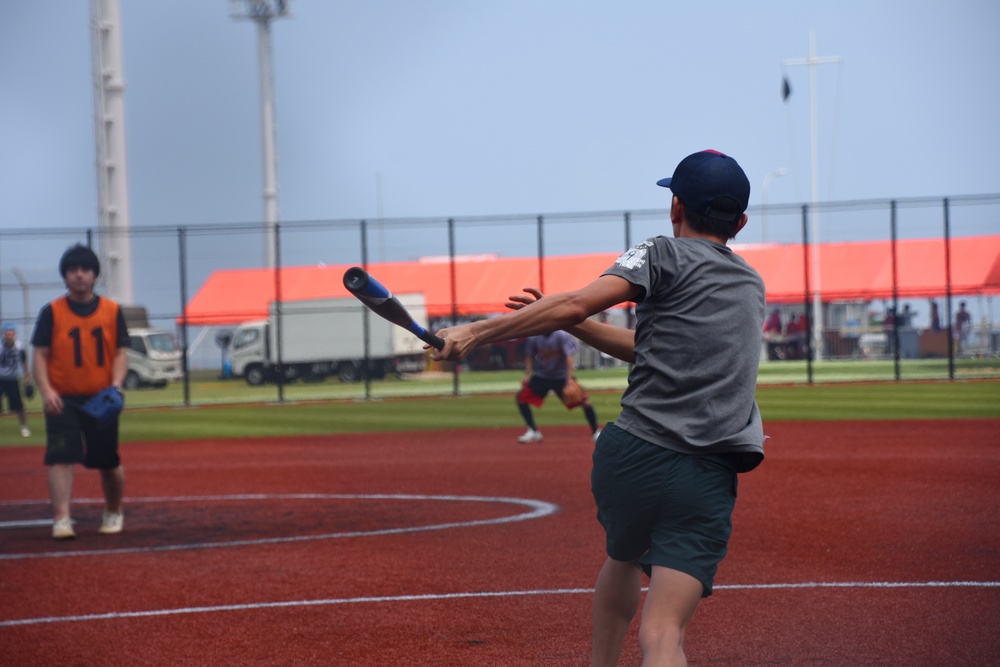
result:
M 84 245 L 59 260 L 67 293 L 42 307 L 31 336 L 35 382 L 45 407 L 45 464 L 49 466 L 52 537 L 76 537 L 70 517 L 73 466 L 97 469 L 104 492 L 99 532 L 120 533 L 125 521 L 125 471 L 118 456 L 118 419 L 98 426 L 82 410 L 108 387 L 121 392 L 128 363 L 128 329 L 117 303 L 94 293 L 101 263 Z

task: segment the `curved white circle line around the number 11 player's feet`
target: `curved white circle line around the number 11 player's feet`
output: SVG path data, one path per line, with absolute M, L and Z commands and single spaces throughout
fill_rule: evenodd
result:
M 498 517 L 495 519 L 475 519 L 472 521 L 455 521 L 439 523 L 430 526 L 403 526 L 400 528 L 383 528 L 381 530 L 357 530 L 345 533 L 323 533 L 320 535 L 293 535 L 290 537 L 268 537 L 252 540 L 229 540 L 222 542 L 195 542 L 190 544 L 168 544 L 158 547 L 133 547 L 122 549 L 90 549 L 85 551 L 46 551 L 40 553 L 0 554 L 0 560 L 25 560 L 30 558 L 63 558 L 70 556 L 95 556 L 108 554 L 151 553 L 155 551 L 180 551 L 184 549 L 214 549 L 218 547 L 240 547 L 260 544 L 284 544 L 288 542 L 311 542 L 315 540 L 333 540 L 346 537 L 367 537 L 373 535 L 400 535 L 403 533 L 418 533 L 432 530 L 448 530 L 450 528 L 468 528 L 470 526 L 490 526 L 505 523 L 517 523 L 540 519 L 559 511 L 559 506 L 543 500 L 529 498 L 497 498 L 489 496 L 424 496 L 411 494 L 333 494 L 333 493 L 291 493 L 291 494 L 242 494 L 232 496 L 180 496 L 162 498 L 126 498 L 125 504 L 135 503 L 177 503 L 177 502 L 220 502 L 236 500 L 413 500 L 413 501 L 446 501 L 446 502 L 478 502 L 522 505 L 527 512 Z M 100 503 L 100 499 L 85 498 L 78 503 Z M 47 504 L 41 500 L 15 500 L 0 502 L 4 505 Z M 51 522 L 50 522 L 51 523 Z

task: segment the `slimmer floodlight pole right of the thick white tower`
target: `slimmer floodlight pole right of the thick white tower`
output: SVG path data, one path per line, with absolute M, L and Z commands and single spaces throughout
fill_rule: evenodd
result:
M 274 122 L 274 75 L 271 56 L 271 21 L 291 14 L 286 0 L 229 0 L 229 16 L 257 24 L 257 62 L 260 73 L 260 109 L 264 139 L 264 263 L 278 265 L 275 234 L 278 226 L 278 154 Z

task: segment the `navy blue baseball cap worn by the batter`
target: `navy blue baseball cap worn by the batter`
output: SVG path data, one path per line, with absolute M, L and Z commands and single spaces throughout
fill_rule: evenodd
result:
M 713 220 L 739 220 L 750 205 L 747 175 L 736 160 L 719 151 L 705 150 L 688 155 L 674 169 L 673 176 L 656 184 L 670 188 L 682 204 Z M 717 208 L 725 200 L 739 208 L 739 213 Z

